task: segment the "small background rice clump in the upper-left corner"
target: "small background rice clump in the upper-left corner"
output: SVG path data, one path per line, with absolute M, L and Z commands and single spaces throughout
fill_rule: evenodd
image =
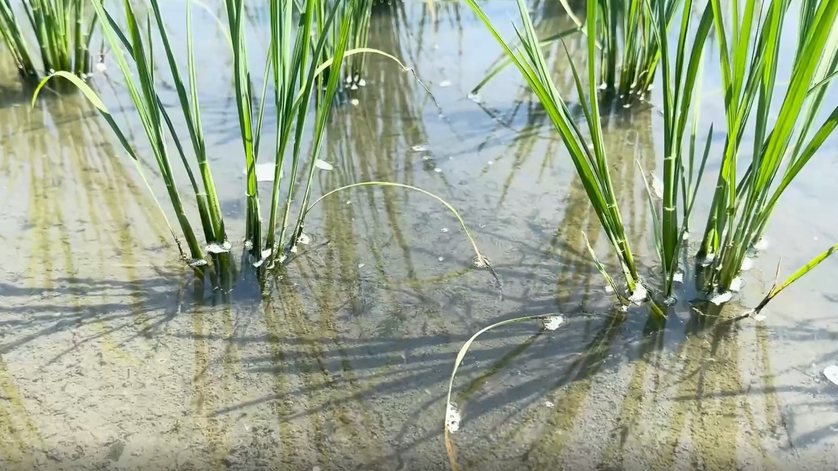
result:
M 86 0 L 12 1 L 0 1 L 0 35 L 23 79 L 37 84 L 53 70 L 91 72 L 91 38 L 99 17 L 85 8 Z

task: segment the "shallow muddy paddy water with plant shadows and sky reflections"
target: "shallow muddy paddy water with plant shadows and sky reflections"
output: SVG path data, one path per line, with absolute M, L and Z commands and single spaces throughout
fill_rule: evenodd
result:
M 549 120 L 511 70 L 479 103 L 467 98 L 499 48 L 465 5 L 436 6 L 433 18 L 424 2 L 376 7 L 370 47 L 414 67 L 442 116 L 411 74 L 369 59 L 367 86 L 346 97 L 359 104 L 345 101 L 329 125 L 323 158 L 334 171 L 318 172 L 315 191 L 379 180 L 440 195 L 463 214 L 502 289 L 473 268 L 444 207 L 365 187 L 324 200 L 308 219 L 312 243 L 268 289 L 242 269 L 230 293 L 196 292 L 94 110 L 78 97 L 30 109 L 6 72 L 0 468 L 449 468 L 442 423 L 460 346 L 499 320 L 559 314 L 558 330 L 525 322 L 473 344 L 453 398 L 461 469 L 838 468 L 838 387 L 821 373 L 838 362 L 838 264 L 781 294 L 762 322 L 717 317 L 756 304 L 780 256 L 788 274 L 834 243 L 835 145 L 784 196 L 741 299 L 700 315 L 686 286 L 665 325 L 644 310 L 615 312 L 582 231 L 603 258 L 608 248 Z M 182 23 L 182 7 L 168 4 L 168 23 Z M 512 33 L 504 22 L 514 3 L 486 8 Z M 558 4 L 533 8 L 544 34 L 571 24 Z M 256 30 L 262 17 L 252 12 Z M 229 60 L 215 20 L 199 20 L 204 126 L 241 251 L 245 176 L 229 124 Z M 568 48 L 582 64 L 579 40 Z M 549 53 L 573 96 L 563 51 Z M 712 90 L 716 62 L 707 62 Z M 95 83 L 130 120 L 112 69 Z M 703 120 L 723 121 L 720 100 L 706 96 Z M 606 136 L 625 222 L 649 263 L 636 161 L 660 165 L 659 118 L 654 106 L 620 110 Z M 147 156 L 143 171 L 168 210 L 154 169 Z

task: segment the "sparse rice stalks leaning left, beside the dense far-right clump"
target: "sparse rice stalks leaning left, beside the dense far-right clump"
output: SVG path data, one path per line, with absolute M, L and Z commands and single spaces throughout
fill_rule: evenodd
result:
M 647 287 L 642 284 L 639 277 L 638 269 L 634 261 L 634 254 L 629 247 L 629 241 L 623 227 L 623 221 L 620 216 L 617 197 L 613 192 L 611 176 L 608 171 L 608 156 L 603 145 L 603 129 L 600 122 L 599 102 L 597 98 L 597 84 L 594 80 L 589 80 L 587 86 L 587 98 L 585 90 L 582 87 L 582 81 L 579 78 L 577 69 L 571 61 L 571 69 L 577 85 L 577 93 L 582 99 L 582 111 L 585 116 L 587 124 L 587 133 L 590 136 L 590 144 L 587 142 L 587 136 L 582 133 L 577 123 L 573 120 L 572 115 L 568 111 L 565 101 L 562 99 L 556 85 L 554 84 L 546 67 L 546 61 L 541 53 L 541 44 L 535 37 L 535 30 L 530 20 L 525 4 L 519 1 L 519 11 L 521 21 L 524 23 L 523 31 L 516 28 L 516 33 L 520 40 L 520 46 L 514 47 L 510 43 L 504 41 L 499 36 L 499 33 L 494 28 L 489 18 L 486 17 L 483 10 L 473 0 L 468 0 L 469 5 L 473 8 L 478 17 L 489 28 L 490 32 L 497 39 L 504 52 L 507 54 L 510 61 L 520 70 L 520 73 L 525 78 L 530 89 L 535 92 L 535 95 L 541 101 L 541 104 L 546 110 L 546 114 L 550 117 L 556 131 L 559 131 L 562 141 L 564 141 L 567 151 L 570 153 L 572 161 L 577 168 L 577 174 L 582 180 L 582 185 L 585 187 L 587 197 L 592 204 L 594 212 L 596 212 L 600 223 L 608 235 L 614 253 L 617 255 L 618 263 L 622 267 L 623 276 L 626 284 L 629 287 L 630 297 L 628 300 L 635 302 L 642 301 L 647 298 Z M 689 147 L 689 158 L 683 159 L 684 150 L 681 142 L 685 137 L 686 124 L 691 113 L 691 97 L 695 88 L 696 81 L 700 76 L 699 70 L 701 68 L 701 51 L 706 40 L 707 34 L 711 27 L 711 9 L 709 5 L 705 8 L 705 13 L 701 18 L 701 23 L 697 28 L 697 33 L 694 39 L 694 45 L 689 50 L 689 60 L 684 60 L 687 56 L 688 47 L 688 31 L 690 30 L 691 19 L 691 0 L 685 2 L 685 10 L 681 21 L 680 38 L 677 44 L 675 53 L 679 58 L 675 66 L 670 65 L 670 58 L 668 57 L 669 49 L 666 39 L 666 28 L 669 24 L 668 15 L 670 14 L 664 2 L 655 3 L 658 8 L 657 13 L 648 12 L 649 18 L 655 18 L 657 23 L 649 26 L 652 31 L 657 34 L 659 43 L 661 44 L 661 54 L 666 56 L 664 60 L 664 79 L 665 79 L 665 181 L 663 189 L 663 214 L 660 218 L 655 217 L 655 234 L 656 246 L 658 248 L 659 257 L 664 267 L 667 282 L 663 289 L 665 296 L 670 295 L 672 279 L 677 271 L 677 259 L 681 250 L 683 241 L 683 234 L 685 233 L 685 220 L 689 218 L 692 209 L 692 201 L 695 197 L 697 184 L 693 181 L 695 172 L 695 141 L 696 128 L 693 120 L 693 128 L 691 131 L 691 146 Z M 650 8 L 650 7 L 648 7 Z M 597 3 L 587 4 L 587 24 L 597 24 Z M 660 32 L 660 33 L 658 33 Z M 587 76 L 592 78 L 596 76 L 596 68 L 594 59 L 596 57 L 596 31 L 589 30 L 587 33 L 587 49 L 588 49 L 588 63 Z M 513 49 L 514 48 L 514 49 Z M 699 177 L 703 171 L 703 163 L 706 161 L 706 154 L 709 145 L 705 146 L 704 156 L 701 160 L 699 168 Z M 687 160 L 687 161 L 685 161 Z M 679 214 L 677 207 L 679 206 L 678 192 L 682 194 L 682 220 L 679 221 Z M 653 212 L 655 205 L 651 202 L 650 207 Z M 660 222 L 659 222 L 660 219 Z M 603 273 L 615 291 L 616 284 L 613 279 L 605 272 L 604 265 L 601 264 L 592 248 L 588 246 L 592 258 L 594 259 L 597 269 Z M 625 300 L 625 299 L 621 299 Z M 656 305 L 652 305 L 653 310 Z

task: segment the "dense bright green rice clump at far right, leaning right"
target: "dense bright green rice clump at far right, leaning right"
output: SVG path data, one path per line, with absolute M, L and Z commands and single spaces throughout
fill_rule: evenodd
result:
M 716 291 L 719 299 L 729 298 L 729 289 L 739 284 L 779 198 L 838 125 L 838 106 L 817 125 L 838 66 L 838 1 L 799 2 L 797 46 L 779 110 L 773 95 L 790 2 L 750 1 L 742 11 L 734 9 L 737 3 L 731 6 L 712 0 L 727 142 L 698 254 L 706 266 L 701 288 Z M 751 124 L 752 156 L 740 172 L 742 137 Z

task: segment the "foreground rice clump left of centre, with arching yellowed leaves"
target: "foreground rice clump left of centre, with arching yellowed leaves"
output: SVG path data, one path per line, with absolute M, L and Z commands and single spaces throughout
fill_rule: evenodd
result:
M 360 3 L 366 4 L 366 0 Z M 201 125 L 197 90 L 197 68 L 194 63 L 194 38 L 192 35 L 191 7 L 192 2 L 186 3 L 187 19 L 187 79 L 184 80 L 178 61 L 171 47 L 168 32 L 163 24 L 160 13 L 159 0 L 150 0 L 147 13 L 151 18 L 145 18 L 146 28 L 137 17 L 131 0 L 124 0 L 122 7 L 125 13 L 124 26 L 104 8 L 102 0 L 91 0 L 96 14 L 104 18 L 104 35 L 111 46 L 113 57 L 119 67 L 122 77 L 131 95 L 133 105 L 142 123 L 151 151 L 158 164 L 160 175 L 163 177 L 169 201 L 184 234 L 186 248 L 189 255 L 184 253 L 179 238 L 172 230 L 173 237 L 178 243 L 181 255 L 189 261 L 189 265 L 200 275 L 204 274 L 204 267 L 212 269 L 210 275 L 226 274 L 229 270 L 229 255 L 231 243 L 227 237 L 224 218 L 220 212 L 219 200 L 215 191 L 215 183 L 209 169 L 206 143 Z M 313 192 L 314 174 L 317 169 L 328 170 L 331 165 L 319 159 L 321 144 L 326 130 L 328 115 L 334 102 L 334 96 L 341 83 L 340 74 L 326 74 L 330 69 L 341 69 L 344 58 L 354 54 L 376 53 L 401 62 L 390 54 L 375 49 L 348 49 L 350 34 L 354 31 L 354 22 L 358 20 L 355 8 L 359 0 L 335 3 L 333 7 L 322 8 L 322 3 L 306 2 L 301 5 L 302 10 L 295 11 L 297 3 L 294 0 L 282 0 L 270 3 L 271 44 L 267 52 L 264 69 L 268 76 L 261 90 L 261 100 L 254 100 L 251 84 L 251 69 L 247 62 L 249 57 L 245 40 L 244 0 L 225 0 L 227 23 L 225 37 L 230 43 L 233 55 L 234 93 L 238 128 L 241 132 L 242 151 L 246 163 L 246 228 L 244 245 L 249 253 L 249 262 L 256 268 L 272 266 L 274 261 L 282 262 L 287 251 L 292 250 L 297 239 L 303 234 L 303 222 L 310 208 L 309 199 Z M 163 65 L 155 63 L 152 46 L 157 41 L 153 38 L 153 24 L 163 44 L 166 62 Z M 337 25 L 337 26 L 335 26 Z M 333 41 L 330 56 L 324 55 L 328 41 Z M 163 106 L 158 95 L 158 70 L 168 68 L 173 78 L 174 89 L 178 96 L 179 112 L 183 115 L 189 143 L 191 143 L 192 159 L 184 146 L 186 141 L 173 125 L 169 111 Z M 138 161 L 137 152 L 127 140 L 126 132 L 113 119 L 106 106 L 96 92 L 88 84 L 73 74 L 59 71 L 44 78 L 39 84 L 33 97 L 37 99 L 39 90 L 51 77 L 63 77 L 75 84 L 88 100 L 96 106 L 100 114 L 111 126 L 117 139 L 127 154 L 135 163 Z M 273 103 L 276 110 L 276 141 L 274 154 L 271 156 L 273 166 L 273 187 L 271 209 L 267 228 L 263 228 L 259 204 L 259 188 L 256 178 L 256 166 L 259 164 L 259 141 L 261 139 L 262 122 L 265 112 L 266 97 L 269 85 L 273 93 Z M 314 103 L 313 111 L 312 102 Z M 258 106 L 254 106 L 258 103 Z M 304 131 L 307 128 L 309 115 L 314 116 L 313 142 L 308 159 L 304 158 L 302 148 L 306 141 Z M 195 203 L 199 212 L 201 227 L 204 230 L 205 242 L 199 243 L 193 225 L 184 208 L 184 202 L 178 192 L 175 181 L 173 164 L 177 159 L 168 148 L 167 141 L 171 138 L 175 152 L 183 164 Z M 289 148 L 290 147 L 290 148 Z M 283 192 L 280 190 L 280 179 L 283 166 L 290 157 L 290 178 L 297 182 L 298 172 L 307 172 L 308 178 L 302 188 L 288 185 Z M 194 161 L 193 161 L 194 159 Z M 193 169 L 194 162 L 198 164 L 198 176 Z M 269 164 L 270 165 L 270 164 Z M 142 168 L 137 165 L 142 176 Z M 144 178 L 144 177 L 143 177 Z M 385 185 L 384 182 L 369 182 L 370 185 Z M 395 185 L 395 184 L 394 184 Z M 150 187 L 150 185 L 149 185 Z M 414 188 L 416 189 L 416 188 Z M 302 196 L 297 193 L 302 191 Z M 420 190 L 422 191 L 422 190 Z M 422 191 L 423 192 L 423 191 Z M 427 193 L 427 192 L 426 192 Z M 328 193 L 331 194 L 331 193 Z M 430 193 L 427 193 L 430 194 Z M 433 195 L 432 195 L 433 196 Z M 280 202 L 284 199 L 282 216 L 280 216 Z M 293 230 L 291 227 L 291 204 L 300 199 L 302 207 Z M 438 198 L 437 198 L 438 199 Z M 442 201 L 442 200 L 440 200 Z M 453 207 L 446 206 L 453 211 Z M 158 202 L 159 206 L 159 202 Z M 161 207 L 162 210 L 162 207 Z M 458 216 L 456 212 L 455 215 Z M 459 216 L 458 216 L 459 218 Z M 459 218 L 462 223 L 462 218 Z M 170 226 L 171 228 L 171 226 Z M 289 235 L 290 234 L 290 235 Z M 475 248 L 480 260 L 484 257 L 478 252 L 473 239 L 468 239 Z M 286 240 L 288 238 L 288 240 Z M 209 257 L 207 256 L 209 255 Z M 266 263 L 267 262 L 267 263 Z M 220 265 L 216 269 L 216 265 Z M 224 279 L 220 280 L 224 283 Z

